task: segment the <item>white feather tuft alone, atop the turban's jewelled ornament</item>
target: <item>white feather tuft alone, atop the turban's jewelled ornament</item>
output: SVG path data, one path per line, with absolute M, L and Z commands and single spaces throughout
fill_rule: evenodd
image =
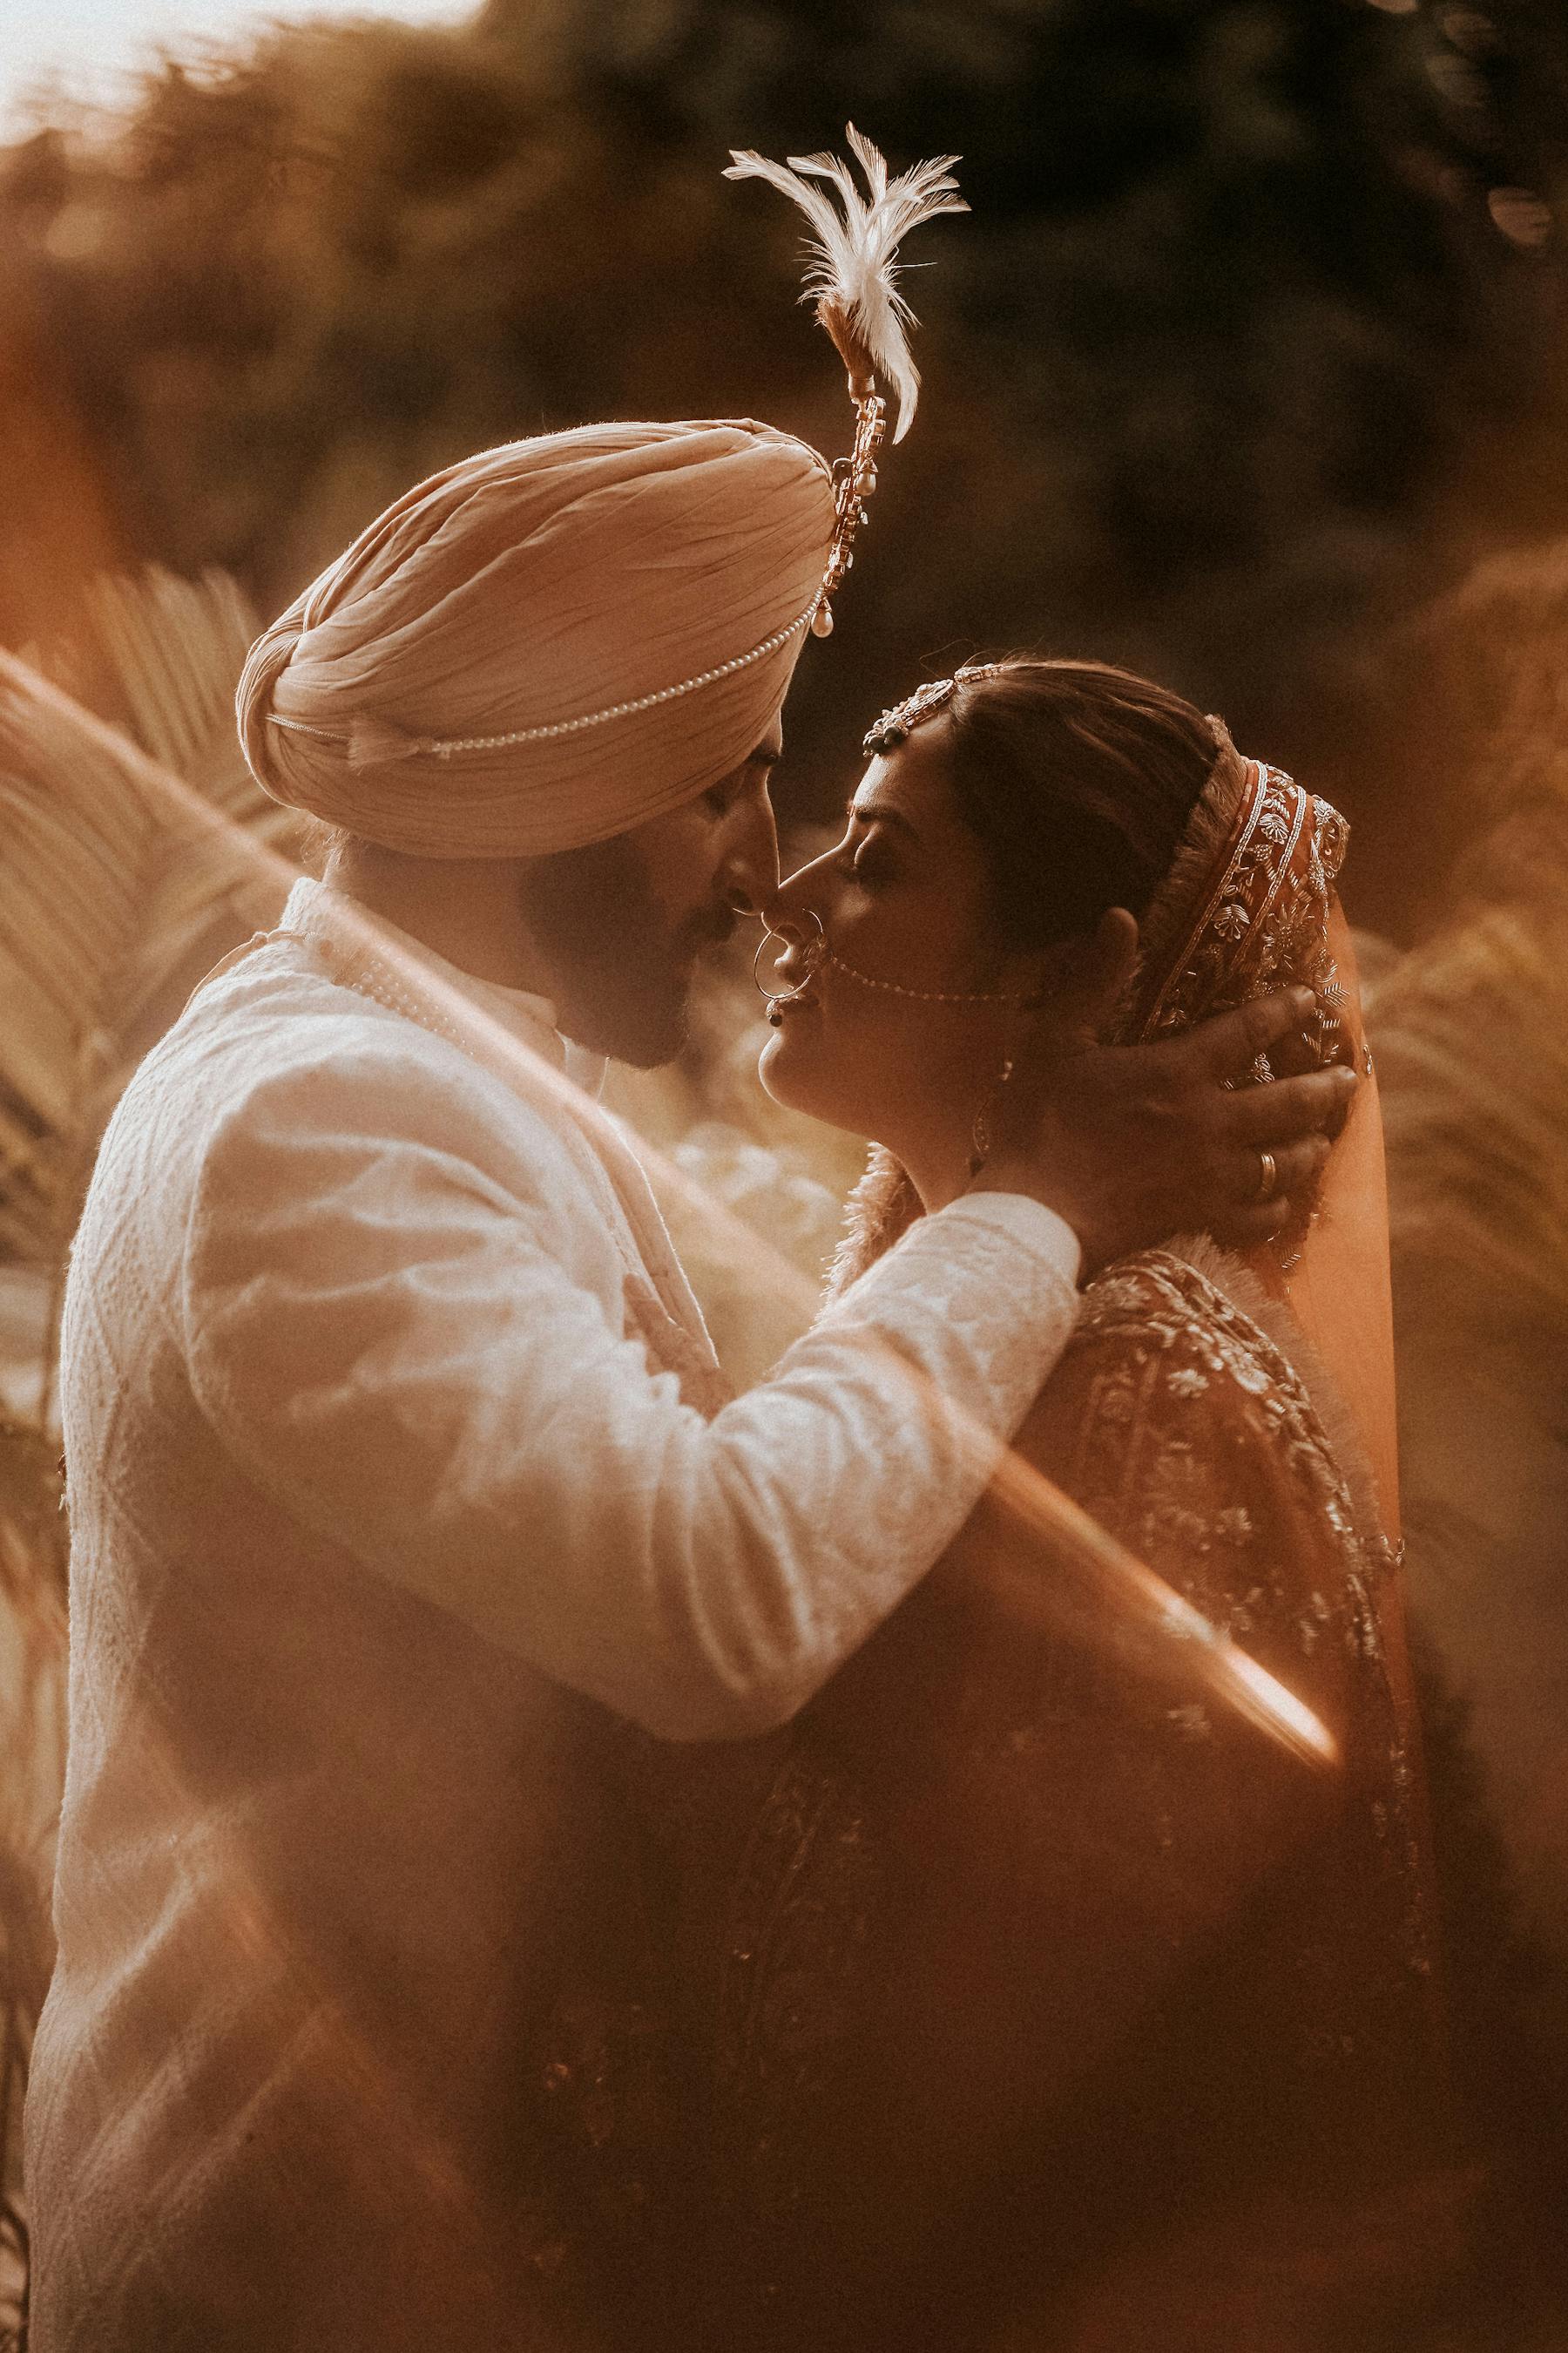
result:
M 903 440 L 914 419 L 919 369 L 905 334 L 914 325 L 914 313 L 898 292 L 898 245 L 922 221 L 933 221 L 943 212 L 969 212 L 969 205 L 952 179 L 957 155 L 917 162 L 889 181 L 882 153 L 853 122 L 846 136 L 865 176 L 865 195 L 837 155 L 790 155 L 783 165 L 731 148 L 733 162 L 724 179 L 766 179 L 806 214 L 813 235 L 806 240 L 811 271 L 804 301 L 816 304 L 818 320 L 844 358 L 856 398 L 865 398 L 877 376 L 893 386 L 898 395 L 893 440 Z

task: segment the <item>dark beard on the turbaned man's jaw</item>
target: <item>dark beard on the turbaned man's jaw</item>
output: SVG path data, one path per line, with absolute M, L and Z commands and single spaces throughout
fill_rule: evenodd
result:
M 691 965 L 698 948 L 729 936 L 733 913 L 703 906 L 672 927 L 625 835 L 538 859 L 520 899 L 564 1035 L 639 1071 L 675 1061 Z

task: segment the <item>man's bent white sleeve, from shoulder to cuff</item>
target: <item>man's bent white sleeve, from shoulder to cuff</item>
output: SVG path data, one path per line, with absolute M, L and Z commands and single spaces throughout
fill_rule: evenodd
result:
M 980 1497 L 1072 1332 L 1072 1233 L 1001 1193 L 922 1219 L 708 1421 L 574 1278 L 597 1212 L 498 1181 L 456 1089 L 388 1134 L 393 1078 L 266 1078 L 212 1139 L 209 1424 L 320 1541 L 649 1729 L 788 1720 Z

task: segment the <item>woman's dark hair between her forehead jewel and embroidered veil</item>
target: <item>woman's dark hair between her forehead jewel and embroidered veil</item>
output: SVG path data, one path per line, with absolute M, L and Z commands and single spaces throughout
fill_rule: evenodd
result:
M 1107 661 L 1013 654 L 959 671 L 943 720 L 954 802 L 985 852 L 997 929 L 1013 951 L 1086 936 L 1112 906 L 1143 920 L 1215 765 L 1237 760 L 1194 704 Z M 891 727 L 867 744 L 891 751 L 900 739 Z M 903 1167 L 872 1146 L 830 1292 L 917 1217 Z

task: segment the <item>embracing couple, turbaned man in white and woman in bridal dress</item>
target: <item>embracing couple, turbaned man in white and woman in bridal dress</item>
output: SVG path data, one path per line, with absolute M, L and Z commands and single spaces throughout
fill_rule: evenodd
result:
M 1403 2311 L 1436 2061 L 1342 824 L 1013 659 L 884 715 L 780 885 L 832 534 L 764 426 L 545 435 L 252 649 L 329 880 L 148 1056 L 73 1257 L 35 2353 Z M 764 1082 L 875 1151 L 726 1398 L 576 1080 L 677 1049 L 741 908 Z M 1143 1633 L 1018 1459 L 1164 1579 Z

